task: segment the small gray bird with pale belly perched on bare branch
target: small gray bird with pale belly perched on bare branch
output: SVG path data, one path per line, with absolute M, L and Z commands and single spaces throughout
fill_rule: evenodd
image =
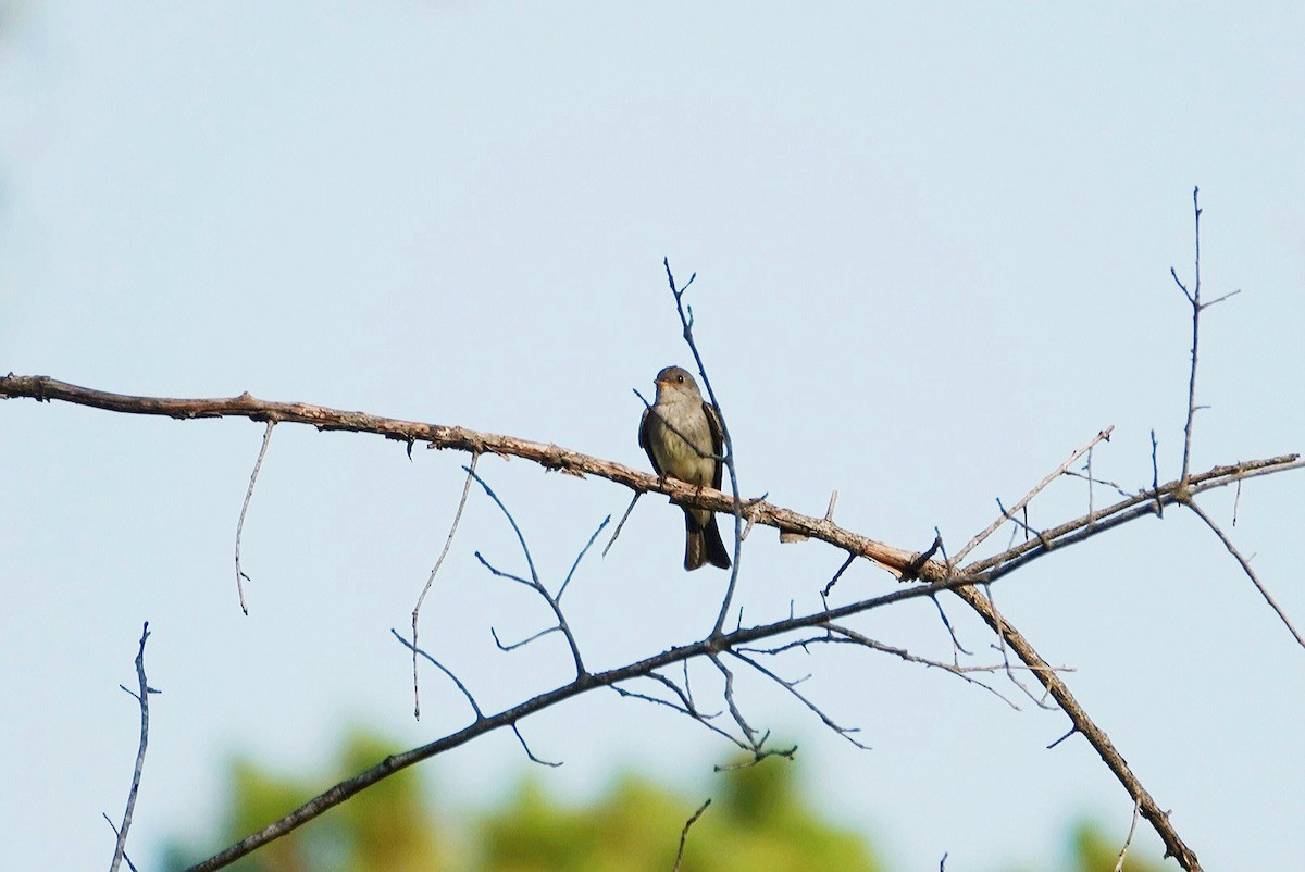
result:
M 720 490 L 724 429 L 711 403 L 702 401 L 693 376 L 681 367 L 656 373 L 656 402 L 639 419 L 639 448 L 662 478 Z M 684 568 L 710 563 L 729 568 L 716 516 L 707 509 L 684 509 Z

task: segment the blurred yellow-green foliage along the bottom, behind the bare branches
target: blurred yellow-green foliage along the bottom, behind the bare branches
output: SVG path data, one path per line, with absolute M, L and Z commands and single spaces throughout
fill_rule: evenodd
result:
M 202 845 L 174 842 L 163 868 L 183 869 L 395 751 L 351 735 L 335 771 L 277 775 L 231 764 L 226 820 Z M 722 777 L 711 805 L 689 830 L 681 872 L 881 872 L 863 834 L 822 818 L 797 788 L 795 764 L 767 760 Z M 234 864 L 238 872 L 671 872 L 685 821 L 702 799 L 625 774 L 586 804 L 551 796 L 536 775 L 487 812 L 440 812 L 412 769 L 392 775 L 290 835 Z M 1130 851 L 1125 872 L 1173 868 Z M 1111 872 L 1118 843 L 1082 824 L 1073 872 Z M 1057 864 L 1058 865 L 1058 864 Z M 1056 865 L 1039 867 L 1056 868 Z

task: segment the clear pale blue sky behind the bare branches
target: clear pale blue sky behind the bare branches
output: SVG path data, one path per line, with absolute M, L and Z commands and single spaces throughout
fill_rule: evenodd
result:
M 12 3 L 0 18 L 0 371 L 161 396 L 249 390 L 556 441 L 643 465 L 632 388 L 698 339 L 749 495 L 867 535 L 959 547 L 1101 427 L 1098 474 L 1177 473 L 1202 189 L 1208 313 L 1197 469 L 1305 446 L 1305 12 L 1116 4 Z M 436 676 L 411 718 L 405 627 L 465 456 L 281 427 L 231 550 L 261 426 L 0 405 L 0 842 L 13 868 L 111 856 L 151 621 L 150 756 L 132 832 L 206 832 L 226 755 L 320 764 L 345 723 L 462 726 Z M 801 458 L 801 462 L 796 462 Z M 628 493 L 485 458 L 560 577 Z M 1244 488 L 1238 544 L 1297 623 L 1300 475 Z M 1206 505 L 1231 522 L 1232 495 Z M 1082 513 L 1062 486 L 1047 525 Z M 572 593 L 595 666 L 693 638 L 723 574 L 679 568 L 642 501 Z M 566 679 L 544 615 L 475 564 L 518 560 L 472 497 L 425 640 L 487 709 Z M 816 604 L 820 544 L 746 543 L 750 619 Z M 891 582 L 857 567 L 847 595 Z M 1305 818 L 1305 657 L 1194 518 L 1168 513 L 996 589 L 1207 868 L 1288 868 Z M 988 637 L 959 604 L 964 641 Z M 932 606 L 861 621 L 949 657 Z M 746 680 L 814 796 L 902 869 L 1049 868 L 1083 812 L 1131 803 L 1064 715 L 821 653 L 787 674 L 859 752 Z M 707 677 L 702 677 L 706 687 Z M 615 694 L 523 723 L 568 795 L 620 764 L 710 795 L 727 748 Z M 423 766 L 452 800 L 526 766 L 496 735 Z M 325 785 L 324 785 L 325 786 Z M 692 808 L 686 808 L 686 813 Z M 668 834 L 675 838 L 676 834 Z M 1155 845 L 1148 839 L 1147 845 Z

